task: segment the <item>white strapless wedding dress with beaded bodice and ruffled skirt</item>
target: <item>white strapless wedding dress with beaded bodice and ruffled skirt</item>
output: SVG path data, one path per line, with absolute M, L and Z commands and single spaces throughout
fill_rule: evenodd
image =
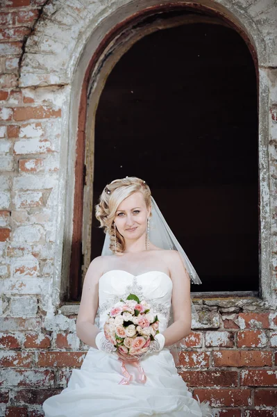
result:
M 103 330 L 107 311 L 130 293 L 147 300 L 158 313 L 160 332 L 167 328 L 171 307 L 172 281 L 165 272 L 149 271 L 131 275 L 110 270 L 99 280 L 99 329 Z M 140 361 L 146 383 L 138 370 L 126 363 L 133 380 L 119 385 L 121 361 L 115 352 L 90 347 L 80 369 L 72 370 L 66 389 L 44 401 L 45 417 L 210 417 L 210 406 L 192 398 L 168 347 Z

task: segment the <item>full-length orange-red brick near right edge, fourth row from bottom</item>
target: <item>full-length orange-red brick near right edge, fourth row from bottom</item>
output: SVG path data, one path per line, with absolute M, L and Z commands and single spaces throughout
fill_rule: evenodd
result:
M 271 352 L 259 350 L 217 350 L 212 352 L 214 366 L 271 366 Z

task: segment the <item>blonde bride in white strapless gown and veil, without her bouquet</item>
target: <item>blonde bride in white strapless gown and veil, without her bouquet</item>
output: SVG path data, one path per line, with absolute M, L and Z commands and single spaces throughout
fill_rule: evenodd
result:
M 170 352 L 191 332 L 188 270 L 194 268 L 182 249 L 171 250 L 178 247 L 174 235 L 168 249 L 153 243 L 154 211 L 159 212 L 149 186 L 137 177 L 117 179 L 103 190 L 96 218 L 106 240 L 85 275 L 76 322 L 78 338 L 90 349 L 67 388 L 44 401 L 45 417 L 212 416 L 208 402 L 192 398 Z M 168 232 L 161 213 L 160 218 Z M 160 322 L 160 333 L 140 357 L 115 350 L 103 332 L 108 311 L 130 293 L 149 302 Z

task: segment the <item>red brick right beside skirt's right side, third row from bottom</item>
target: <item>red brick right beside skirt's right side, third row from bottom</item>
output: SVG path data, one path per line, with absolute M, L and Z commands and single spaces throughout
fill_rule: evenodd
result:
M 237 386 L 237 372 L 233 370 L 185 370 L 179 372 L 189 386 Z

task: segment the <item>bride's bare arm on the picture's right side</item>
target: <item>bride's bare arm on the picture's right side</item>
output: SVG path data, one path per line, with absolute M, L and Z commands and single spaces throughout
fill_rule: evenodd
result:
M 162 332 L 165 346 L 173 345 L 191 332 L 190 275 L 188 275 L 181 255 L 176 251 L 169 253 L 169 271 L 172 279 L 172 308 L 174 322 Z

